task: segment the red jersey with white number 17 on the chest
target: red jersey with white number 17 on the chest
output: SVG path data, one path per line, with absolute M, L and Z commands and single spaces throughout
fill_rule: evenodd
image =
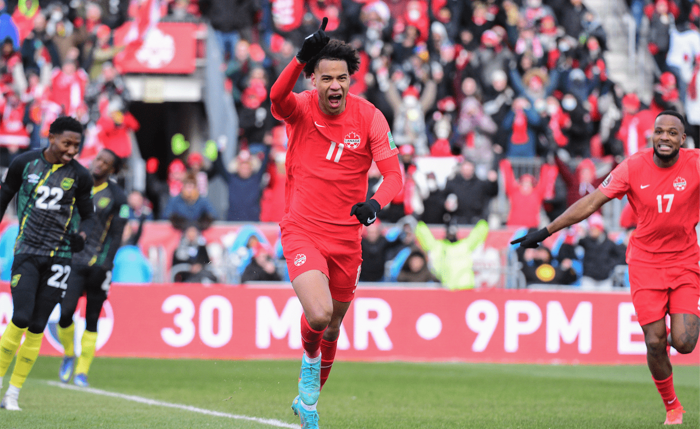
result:
M 678 162 L 661 168 L 645 148 L 619 164 L 598 189 L 610 198 L 627 195 L 637 215 L 628 264 L 698 265 L 695 227 L 700 217 L 700 150 L 680 149 Z

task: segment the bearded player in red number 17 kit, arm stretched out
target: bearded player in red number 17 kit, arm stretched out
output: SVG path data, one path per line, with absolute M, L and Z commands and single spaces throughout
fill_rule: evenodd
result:
M 691 353 L 699 333 L 700 248 L 695 227 L 700 217 L 700 150 L 681 148 L 685 120 L 662 111 L 654 121 L 653 148 L 624 160 L 589 195 L 539 231 L 511 242 L 536 247 L 549 235 L 587 218 L 612 198 L 627 195 L 638 216 L 626 251 L 632 302 L 647 345 L 647 365 L 666 406 L 664 424 L 683 422 L 673 389 L 666 345 Z M 671 332 L 666 334 L 666 314 Z

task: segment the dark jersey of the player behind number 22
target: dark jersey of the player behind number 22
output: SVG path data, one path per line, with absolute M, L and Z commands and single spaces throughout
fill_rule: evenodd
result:
M 106 181 L 92 188 L 92 201 L 94 221 L 90 225 L 80 224 L 80 230 L 87 233 L 87 240 L 83 251 L 73 255 L 73 264 L 110 270 L 129 220 L 127 197 L 119 185 Z

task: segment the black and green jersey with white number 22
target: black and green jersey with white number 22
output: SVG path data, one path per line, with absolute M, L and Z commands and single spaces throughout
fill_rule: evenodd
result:
M 10 163 L 0 188 L 0 219 L 17 195 L 20 232 L 15 255 L 71 258 L 66 237 L 78 229 L 78 218 L 92 221 L 92 176 L 76 160 L 50 164 L 42 150 L 31 150 Z

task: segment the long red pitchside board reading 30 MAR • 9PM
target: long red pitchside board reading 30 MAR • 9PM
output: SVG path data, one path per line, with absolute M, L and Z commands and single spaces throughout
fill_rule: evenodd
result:
M 79 308 L 82 306 L 79 306 Z M 12 313 L 0 283 L 0 330 Z M 298 358 L 302 309 L 289 286 L 113 285 L 97 356 Z M 59 355 L 50 318 L 41 353 Z M 76 314 L 76 331 L 84 326 Z M 79 349 L 79 341 L 76 346 Z M 643 364 L 628 293 L 358 288 L 344 318 L 342 360 Z M 699 365 L 696 350 L 671 362 Z

